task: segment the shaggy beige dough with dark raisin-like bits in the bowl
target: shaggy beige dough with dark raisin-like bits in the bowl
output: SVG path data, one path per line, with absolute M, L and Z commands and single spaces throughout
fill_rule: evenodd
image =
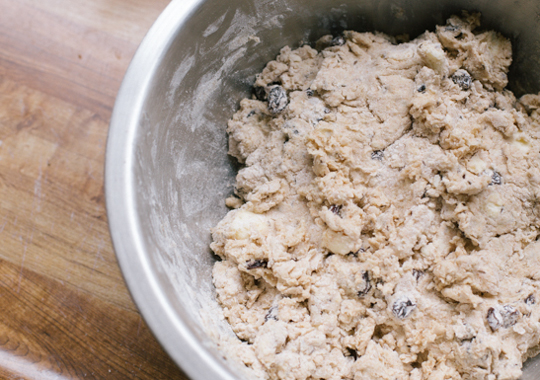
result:
M 213 275 L 263 378 L 518 379 L 536 353 L 540 96 L 478 25 L 285 47 L 242 100 Z

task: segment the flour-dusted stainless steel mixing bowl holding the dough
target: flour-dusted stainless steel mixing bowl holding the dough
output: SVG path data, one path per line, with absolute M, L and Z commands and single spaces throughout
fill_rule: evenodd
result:
M 208 245 L 234 183 L 227 119 L 255 74 L 284 45 L 343 29 L 415 37 L 462 9 L 511 38 L 511 89 L 539 91 L 538 0 L 174 0 L 156 21 L 114 108 L 107 208 L 133 298 L 192 379 L 249 378 L 220 348 L 232 332 L 214 298 Z M 540 378 L 535 363 L 523 379 Z

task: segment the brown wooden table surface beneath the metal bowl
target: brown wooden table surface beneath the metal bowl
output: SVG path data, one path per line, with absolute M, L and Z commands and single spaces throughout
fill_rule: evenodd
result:
M 122 279 L 107 129 L 168 0 L 0 0 L 0 379 L 186 379 Z

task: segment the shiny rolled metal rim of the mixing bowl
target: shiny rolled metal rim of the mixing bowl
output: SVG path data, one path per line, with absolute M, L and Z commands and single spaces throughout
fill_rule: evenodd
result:
M 134 151 L 152 78 L 176 35 L 204 0 L 173 0 L 141 42 L 116 97 L 105 158 L 105 197 L 112 242 L 130 294 L 174 362 L 192 379 L 235 380 L 215 360 L 164 295 L 151 269 L 137 216 Z

